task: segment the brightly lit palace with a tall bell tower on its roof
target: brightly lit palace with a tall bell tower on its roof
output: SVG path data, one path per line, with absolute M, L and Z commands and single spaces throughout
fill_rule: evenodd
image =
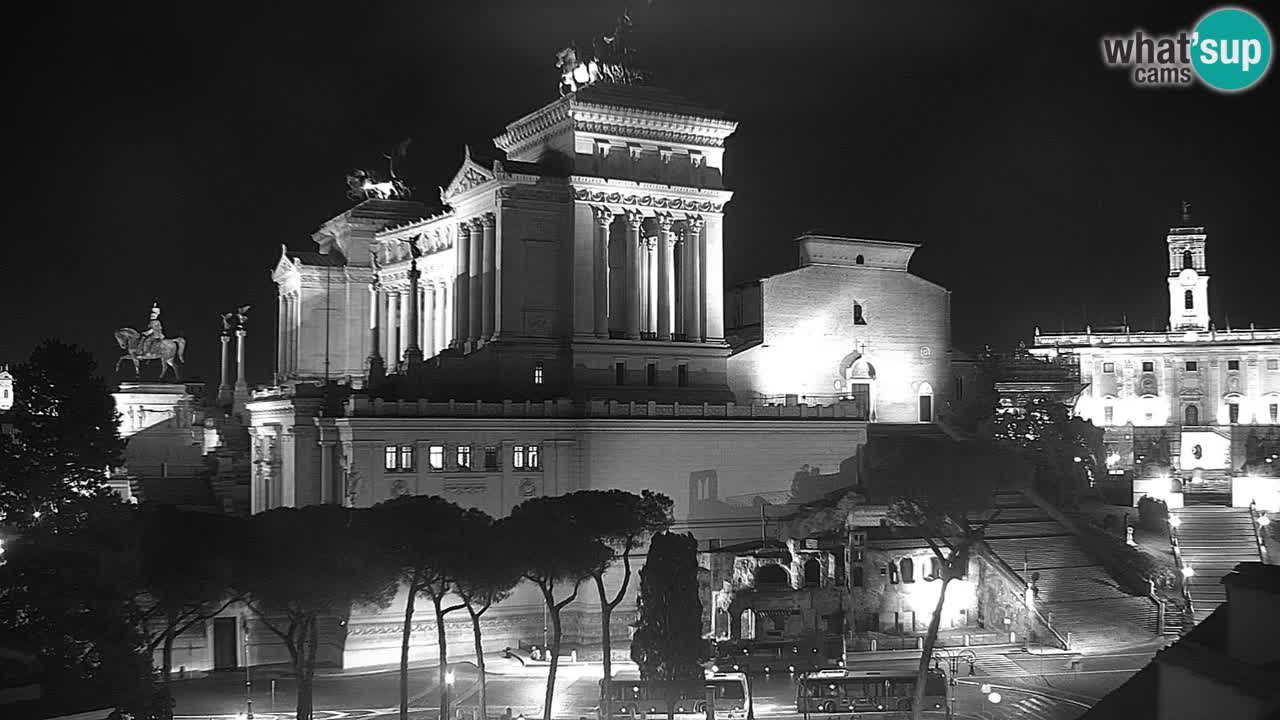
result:
M 1166 237 L 1169 325 L 1036 331 L 1033 354 L 1078 364 L 1075 411 L 1106 432 L 1112 475 L 1179 503 L 1280 509 L 1280 329 L 1219 328 L 1208 302 L 1208 234 L 1183 222 Z

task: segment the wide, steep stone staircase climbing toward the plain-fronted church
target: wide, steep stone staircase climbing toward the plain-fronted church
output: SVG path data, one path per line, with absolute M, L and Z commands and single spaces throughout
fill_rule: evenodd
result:
M 1157 632 L 1156 603 L 1128 592 L 1083 543 L 1020 492 L 996 496 L 987 546 L 1038 588 L 1036 606 L 1073 650 L 1140 641 Z

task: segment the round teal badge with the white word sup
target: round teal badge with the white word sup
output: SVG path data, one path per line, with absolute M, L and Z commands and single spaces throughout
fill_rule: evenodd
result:
M 1196 24 L 1192 65 L 1213 90 L 1238 92 L 1253 87 L 1271 67 L 1271 33 L 1248 10 L 1213 10 Z

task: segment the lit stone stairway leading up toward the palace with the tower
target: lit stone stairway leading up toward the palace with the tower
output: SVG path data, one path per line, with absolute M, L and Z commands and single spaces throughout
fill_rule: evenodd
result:
M 1240 562 L 1263 561 L 1262 551 L 1248 507 L 1196 505 L 1175 510 L 1174 515 L 1179 519 L 1174 537 L 1183 568 L 1194 573 L 1184 583 L 1199 623 L 1226 602 L 1222 578 Z

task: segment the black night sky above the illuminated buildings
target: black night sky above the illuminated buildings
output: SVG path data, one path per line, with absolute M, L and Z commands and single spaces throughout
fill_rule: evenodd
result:
M 913 269 L 954 291 L 960 347 L 1085 314 L 1162 329 L 1164 232 L 1187 199 L 1217 323 L 1280 325 L 1276 73 L 1236 96 L 1138 90 L 1100 59 L 1102 35 L 1188 28 L 1211 4 L 635 5 L 655 83 L 740 123 L 727 283 L 787 269 L 794 237 L 824 228 L 923 242 Z M 434 200 L 463 142 L 554 100 L 556 51 L 620 6 L 27 4 L 5 49 L 0 363 L 56 336 L 110 365 L 111 332 L 159 299 L 188 374 L 216 382 L 218 313 L 250 302 L 265 380 L 270 269 L 349 206 L 344 172 L 412 137 L 407 173 Z

